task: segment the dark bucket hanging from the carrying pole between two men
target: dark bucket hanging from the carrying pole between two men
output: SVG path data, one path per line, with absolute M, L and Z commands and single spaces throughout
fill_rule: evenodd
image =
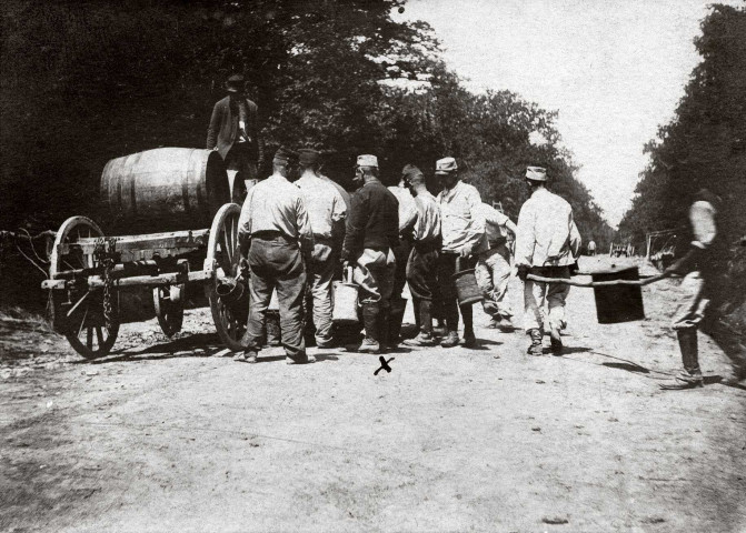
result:
M 639 280 L 637 266 L 593 272 L 590 275 L 593 281 Z M 639 285 L 594 286 L 594 296 L 599 324 L 645 320 Z

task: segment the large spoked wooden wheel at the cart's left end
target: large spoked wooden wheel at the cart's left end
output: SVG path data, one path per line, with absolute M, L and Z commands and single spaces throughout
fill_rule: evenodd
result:
M 53 280 L 64 270 L 87 269 L 98 265 L 93 253 L 74 243 L 82 238 L 103 237 L 101 229 L 86 217 L 71 217 L 57 232 L 50 258 L 49 276 Z M 67 249 L 62 250 L 62 245 Z M 118 293 L 113 291 L 112 306 L 118 308 Z M 89 291 L 87 286 L 52 291 L 51 316 L 54 330 L 62 333 L 76 352 L 86 359 L 102 358 L 111 351 L 119 333 L 117 313 L 109 325 L 103 318 L 103 290 Z

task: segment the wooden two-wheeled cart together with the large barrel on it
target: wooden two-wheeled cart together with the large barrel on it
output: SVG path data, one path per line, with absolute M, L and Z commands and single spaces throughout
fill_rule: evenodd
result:
M 84 358 L 100 358 L 112 349 L 120 324 L 143 314 L 155 314 L 171 336 L 181 329 L 189 301 L 209 305 L 220 340 L 240 350 L 248 315 L 237 282 L 240 208 L 229 203 L 217 152 L 158 149 L 112 160 L 101 178 L 101 197 L 115 233 L 172 231 L 107 237 L 89 218 L 66 220 L 42 282 L 54 330 Z M 200 228 L 209 220 L 209 229 Z

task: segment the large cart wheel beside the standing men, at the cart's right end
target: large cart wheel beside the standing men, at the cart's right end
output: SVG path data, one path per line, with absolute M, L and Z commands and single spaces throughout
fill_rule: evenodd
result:
M 205 268 L 215 271 L 212 279 L 205 285 L 205 293 L 210 301 L 210 311 L 218 336 L 223 344 L 235 351 L 243 350 L 243 334 L 246 333 L 246 313 L 236 313 L 218 298 L 218 282 L 225 278 L 236 278 L 240 253 L 238 249 L 238 218 L 241 208 L 235 203 L 227 203 L 215 215 L 210 228 L 210 239 L 207 244 Z

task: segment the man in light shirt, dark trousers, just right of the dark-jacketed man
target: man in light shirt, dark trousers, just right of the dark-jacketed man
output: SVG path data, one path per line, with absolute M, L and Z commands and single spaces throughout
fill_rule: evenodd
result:
M 412 191 L 417 208 L 415 243 L 407 261 L 407 283 L 419 324 L 417 336 L 404 343 L 408 346 L 432 346 L 436 343 L 432 336 L 432 302 L 440 298 L 437 273 L 442 245 L 440 209 L 435 197 L 425 187 L 425 175 L 417 167 L 406 165 L 402 174 L 407 187 Z

